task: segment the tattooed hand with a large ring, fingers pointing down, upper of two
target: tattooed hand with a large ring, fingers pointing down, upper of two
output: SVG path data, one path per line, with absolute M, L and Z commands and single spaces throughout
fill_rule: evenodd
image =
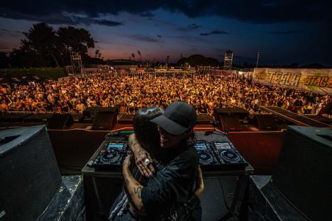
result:
M 146 151 L 138 141 L 136 140 L 135 134 L 132 134 L 128 138 L 129 148 L 133 151 L 135 156 L 135 163 L 142 174 L 145 177 L 151 177 L 155 174 L 155 169 L 153 168 L 153 164 L 146 165 L 144 163 L 145 159 L 150 159 L 150 162 L 153 162 L 153 159 L 150 157 L 150 153 Z

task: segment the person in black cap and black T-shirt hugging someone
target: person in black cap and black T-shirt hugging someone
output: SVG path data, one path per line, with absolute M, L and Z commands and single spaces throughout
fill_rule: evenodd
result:
M 138 159 L 140 152 L 132 147 L 136 164 L 150 176 L 145 186 L 131 174 L 129 157 L 123 162 L 128 194 L 135 208 L 144 214 L 140 220 L 201 220 L 199 198 L 194 193 L 199 171 L 193 133 L 196 121 L 194 108 L 182 101 L 171 103 L 165 113 L 150 120 L 158 126 L 158 154 L 166 164 L 153 174 L 153 165 L 148 164 L 152 160 L 150 156 L 145 154 L 145 159 Z

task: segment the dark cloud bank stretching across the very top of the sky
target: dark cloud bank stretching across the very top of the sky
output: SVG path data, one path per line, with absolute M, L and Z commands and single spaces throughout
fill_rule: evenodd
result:
M 104 14 L 118 15 L 128 12 L 150 16 L 151 11 L 164 9 L 181 12 L 190 18 L 220 16 L 250 23 L 287 23 L 292 21 L 331 23 L 332 1 L 326 0 L 100 0 L 100 1 L 3 1 L 0 16 L 13 19 L 44 21 L 45 17 L 62 15 L 63 12 L 84 14 L 99 18 Z M 63 19 L 63 18 L 62 18 Z M 60 19 L 61 20 L 61 19 Z M 53 21 L 55 22 L 55 21 Z M 106 23 L 107 24 L 107 23 Z

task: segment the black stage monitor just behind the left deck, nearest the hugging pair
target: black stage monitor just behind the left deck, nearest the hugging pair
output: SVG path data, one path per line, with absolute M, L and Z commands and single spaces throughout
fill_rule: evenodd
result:
M 95 113 L 92 130 L 111 130 L 118 122 L 118 107 Z

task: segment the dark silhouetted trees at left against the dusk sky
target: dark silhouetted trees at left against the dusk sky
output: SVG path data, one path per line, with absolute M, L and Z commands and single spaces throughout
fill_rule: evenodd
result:
M 70 65 L 71 51 L 79 52 L 83 62 L 102 62 L 99 50 L 96 57 L 87 55 L 88 48 L 93 48 L 95 41 L 84 28 L 68 26 L 55 30 L 47 23 L 35 23 L 23 35 L 25 38 L 18 49 L 8 55 L 0 52 L 0 68 L 64 67 Z

